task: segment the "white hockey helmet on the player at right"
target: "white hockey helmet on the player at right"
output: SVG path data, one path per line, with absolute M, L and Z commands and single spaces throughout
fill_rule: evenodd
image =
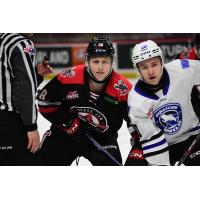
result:
M 137 68 L 139 62 L 158 56 L 160 56 L 162 65 L 164 65 L 162 50 L 154 41 L 147 40 L 136 44 L 132 51 L 133 67 Z

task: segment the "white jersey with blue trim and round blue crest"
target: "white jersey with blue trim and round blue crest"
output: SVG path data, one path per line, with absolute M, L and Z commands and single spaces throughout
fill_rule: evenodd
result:
M 129 116 L 141 134 L 141 145 L 149 165 L 169 165 L 168 146 L 199 132 L 199 119 L 191 91 L 200 84 L 200 61 L 175 60 L 165 65 L 164 87 L 156 93 L 139 80 L 128 97 Z

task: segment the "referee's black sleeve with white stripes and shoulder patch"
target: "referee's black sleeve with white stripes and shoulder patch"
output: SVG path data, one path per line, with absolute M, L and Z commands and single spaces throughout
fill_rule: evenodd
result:
M 30 40 L 22 40 L 10 54 L 13 69 L 12 101 L 27 131 L 37 129 L 35 95 L 37 89 L 35 62 L 36 50 Z

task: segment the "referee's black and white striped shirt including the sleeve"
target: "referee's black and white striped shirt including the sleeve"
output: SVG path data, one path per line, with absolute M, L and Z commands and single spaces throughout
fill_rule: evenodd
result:
M 36 50 L 22 34 L 0 34 L 0 110 L 19 113 L 27 131 L 37 128 Z

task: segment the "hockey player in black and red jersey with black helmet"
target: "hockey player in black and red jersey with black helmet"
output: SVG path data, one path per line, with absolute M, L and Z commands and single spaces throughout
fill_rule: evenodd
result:
M 67 68 L 39 92 L 39 110 L 52 123 L 41 143 L 44 165 L 71 165 L 80 156 L 92 165 L 116 165 L 86 134 L 122 163 L 117 137 L 123 120 L 130 125 L 127 97 L 132 85 L 112 69 L 114 54 L 109 39 L 92 39 L 86 64 Z

